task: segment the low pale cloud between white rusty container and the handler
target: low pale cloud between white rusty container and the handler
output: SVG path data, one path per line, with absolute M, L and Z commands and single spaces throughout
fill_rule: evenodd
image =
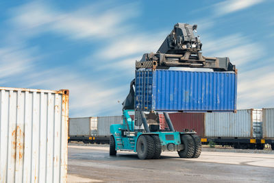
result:
M 64 73 L 69 73 L 68 75 Z M 112 87 L 101 83 L 100 80 L 86 80 L 79 73 L 73 73 L 65 67 L 41 71 L 29 75 L 28 87 L 41 86 L 44 88 L 70 90 L 70 116 L 97 116 L 121 113 L 121 103 L 127 90 L 126 86 Z

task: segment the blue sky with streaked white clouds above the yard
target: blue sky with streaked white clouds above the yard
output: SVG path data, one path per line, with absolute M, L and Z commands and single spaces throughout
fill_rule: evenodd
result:
M 120 115 L 135 61 L 175 23 L 238 69 L 237 109 L 274 107 L 274 1 L 0 1 L 0 86 L 69 89 L 69 116 Z

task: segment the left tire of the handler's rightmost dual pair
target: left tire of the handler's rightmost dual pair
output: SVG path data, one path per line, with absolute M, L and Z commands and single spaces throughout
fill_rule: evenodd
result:
M 181 143 L 184 145 L 184 149 L 178 151 L 180 158 L 192 158 L 195 156 L 195 142 L 190 134 L 182 134 Z

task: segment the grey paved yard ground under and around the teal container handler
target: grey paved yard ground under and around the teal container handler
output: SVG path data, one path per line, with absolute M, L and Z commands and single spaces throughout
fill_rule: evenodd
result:
M 164 152 L 160 160 L 139 160 L 108 146 L 69 145 L 68 182 L 273 182 L 274 154 L 202 151 L 181 159 Z

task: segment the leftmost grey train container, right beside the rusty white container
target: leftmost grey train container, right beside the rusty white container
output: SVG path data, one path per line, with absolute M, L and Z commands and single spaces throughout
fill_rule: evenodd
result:
M 90 117 L 69 119 L 69 136 L 90 136 L 90 128 Z

